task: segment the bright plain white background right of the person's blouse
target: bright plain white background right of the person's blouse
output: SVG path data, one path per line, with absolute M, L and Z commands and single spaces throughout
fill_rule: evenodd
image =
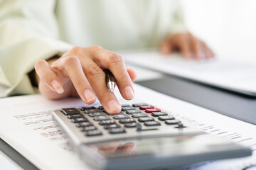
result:
M 255 0 L 182 0 L 186 26 L 218 57 L 256 63 Z

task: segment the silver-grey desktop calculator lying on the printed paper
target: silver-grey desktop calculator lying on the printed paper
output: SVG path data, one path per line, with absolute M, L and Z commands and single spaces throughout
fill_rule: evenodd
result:
M 252 154 L 149 103 L 123 104 L 118 114 L 87 106 L 62 108 L 52 116 L 75 152 L 95 169 L 176 169 Z

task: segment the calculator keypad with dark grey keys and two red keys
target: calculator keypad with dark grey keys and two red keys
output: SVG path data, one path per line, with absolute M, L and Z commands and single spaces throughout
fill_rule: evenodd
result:
M 80 111 L 77 108 L 63 108 L 61 112 L 87 137 L 104 135 L 105 132 L 111 135 L 124 134 L 134 128 L 141 132 L 142 125 L 149 128 L 161 127 L 162 124 L 178 129 L 186 128 L 181 120 L 147 103 L 134 103 L 132 106 L 124 104 L 121 113 L 116 115 L 106 113 L 102 106 L 82 107 Z

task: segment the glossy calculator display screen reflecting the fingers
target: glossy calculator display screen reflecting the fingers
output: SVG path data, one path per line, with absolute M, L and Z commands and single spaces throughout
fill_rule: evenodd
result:
M 146 139 L 120 140 L 88 145 L 92 150 L 108 159 L 155 155 L 157 157 L 201 154 L 233 149 L 234 145 L 219 137 L 207 134 L 176 137 L 155 137 Z

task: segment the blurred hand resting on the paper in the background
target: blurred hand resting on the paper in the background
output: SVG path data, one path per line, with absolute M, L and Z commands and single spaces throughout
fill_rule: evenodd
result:
M 202 60 L 214 57 L 205 42 L 198 40 L 191 33 L 178 33 L 166 38 L 161 44 L 161 53 L 168 55 L 180 50 L 186 59 Z

